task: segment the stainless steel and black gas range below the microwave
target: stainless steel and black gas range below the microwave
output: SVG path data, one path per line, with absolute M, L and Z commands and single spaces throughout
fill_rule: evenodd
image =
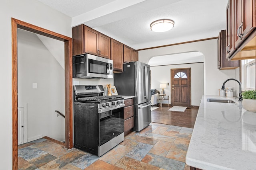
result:
M 74 86 L 74 147 L 102 156 L 124 141 L 124 99 L 102 85 Z

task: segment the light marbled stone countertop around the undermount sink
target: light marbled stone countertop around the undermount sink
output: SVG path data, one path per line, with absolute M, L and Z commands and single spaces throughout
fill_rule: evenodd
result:
M 203 170 L 256 170 L 256 113 L 242 103 L 207 102 L 203 96 L 186 164 Z

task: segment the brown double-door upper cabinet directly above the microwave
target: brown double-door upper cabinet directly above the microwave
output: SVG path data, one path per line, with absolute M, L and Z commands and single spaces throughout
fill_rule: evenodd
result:
M 86 25 L 72 28 L 73 55 L 89 53 L 110 59 L 110 37 Z

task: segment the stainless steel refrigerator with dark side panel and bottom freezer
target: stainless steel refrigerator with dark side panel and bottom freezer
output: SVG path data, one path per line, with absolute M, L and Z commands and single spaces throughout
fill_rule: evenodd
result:
M 114 74 L 118 95 L 135 96 L 134 128 L 141 131 L 151 123 L 150 66 L 136 61 L 123 65 L 122 73 Z

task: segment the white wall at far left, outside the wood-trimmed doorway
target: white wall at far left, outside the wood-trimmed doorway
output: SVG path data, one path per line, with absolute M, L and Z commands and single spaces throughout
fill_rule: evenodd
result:
M 12 169 L 12 25 L 16 18 L 72 37 L 71 18 L 36 0 L 2 0 L 0 2 L 0 165 Z

